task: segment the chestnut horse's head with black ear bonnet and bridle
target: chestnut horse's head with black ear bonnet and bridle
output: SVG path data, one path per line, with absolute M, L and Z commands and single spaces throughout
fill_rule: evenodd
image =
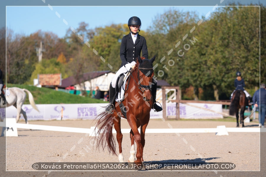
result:
M 155 60 L 155 56 L 151 59 L 145 59 L 141 57 L 139 66 L 137 68 L 138 73 L 138 86 L 140 91 L 142 91 L 142 96 L 144 101 L 150 101 L 152 99 L 152 82 L 153 82 L 153 61 Z

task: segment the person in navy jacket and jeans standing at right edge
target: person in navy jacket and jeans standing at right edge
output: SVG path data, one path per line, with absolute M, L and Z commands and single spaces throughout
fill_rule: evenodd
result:
M 260 85 L 259 90 L 255 91 L 252 99 L 254 106 L 259 108 L 259 126 L 263 128 L 266 114 L 266 90 L 264 83 Z

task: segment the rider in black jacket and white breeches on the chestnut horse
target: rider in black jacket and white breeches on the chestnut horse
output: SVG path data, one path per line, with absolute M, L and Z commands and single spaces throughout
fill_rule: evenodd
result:
M 109 89 L 109 101 L 105 111 L 112 114 L 114 110 L 114 100 L 115 96 L 115 86 L 116 80 L 120 74 L 126 73 L 130 70 L 131 66 L 136 64 L 137 57 L 140 56 L 142 50 L 142 56 L 148 59 L 148 49 L 146 45 L 146 40 L 143 36 L 139 35 L 141 21 L 138 17 L 131 17 L 128 20 L 129 34 L 124 36 L 121 41 L 120 47 L 120 59 L 122 61 L 120 69 L 116 72 L 115 77 L 111 81 Z M 152 84 L 152 94 L 153 94 L 153 109 L 155 112 L 163 110 L 160 106 L 156 104 L 156 91 L 157 91 L 157 82 L 153 79 Z M 113 102 L 112 102 L 113 100 Z

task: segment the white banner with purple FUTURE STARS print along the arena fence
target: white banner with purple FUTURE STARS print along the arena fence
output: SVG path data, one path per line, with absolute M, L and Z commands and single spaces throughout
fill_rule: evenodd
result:
M 40 112 L 32 108 L 30 104 L 24 104 L 22 109 L 26 112 L 28 120 L 68 120 L 68 119 L 94 119 L 100 112 L 104 111 L 107 104 L 38 104 Z M 204 109 L 200 109 L 202 107 Z M 183 119 L 208 119 L 223 118 L 221 104 L 191 103 L 190 105 L 179 105 L 180 118 Z M 166 104 L 166 115 L 176 116 L 176 104 Z M 210 109 L 207 111 L 206 109 Z M 17 109 L 14 106 L 0 109 L 1 117 L 16 118 Z M 20 117 L 24 119 L 23 115 Z M 163 112 L 150 111 L 151 119 L 162 119 Z

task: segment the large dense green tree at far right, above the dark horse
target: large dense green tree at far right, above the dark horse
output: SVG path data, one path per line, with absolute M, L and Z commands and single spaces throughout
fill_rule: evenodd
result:
M 207 44 L 202 86 L 212 85 L 218 100 L 221 93 L 231 94 L 235 73 L 241 71 L 246 88 L 252 88 L 259 74 L 259 8 L 224 7 L 205 25 L 197 43 L 199 50 Z

